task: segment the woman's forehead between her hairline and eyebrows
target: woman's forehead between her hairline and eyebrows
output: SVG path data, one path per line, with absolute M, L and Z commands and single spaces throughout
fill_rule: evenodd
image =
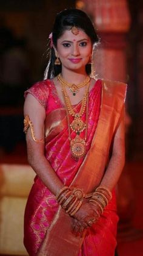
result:
M 59 38 L 60 41 L 63 40 L 68 40 L 68 41 L 79 41 L 82 39 L 87 39 L 89 40 L 90 37 L 88 37 L 88 35 L 84 32 L 84 30 L 82 29 L 78 29 L 79 30 L 79 34 L 78 35 L 74 35 L 71 30 L 65 30 L 64 33 L 61 35 L 61 37 Z

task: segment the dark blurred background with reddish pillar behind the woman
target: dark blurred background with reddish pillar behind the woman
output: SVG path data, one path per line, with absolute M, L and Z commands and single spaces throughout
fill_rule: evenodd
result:
M 88 13 L 101 44 L 96 77 L 128 84 L 126 163 L 117 187 L 118 254 L 143 255 L 143 2 L 141 0 L 0 1 L 0 254 L 27 255 L 23 215 L 33 173 L 23 133 L 24 91 L 42 80 L 48 35 L 59 11 Z

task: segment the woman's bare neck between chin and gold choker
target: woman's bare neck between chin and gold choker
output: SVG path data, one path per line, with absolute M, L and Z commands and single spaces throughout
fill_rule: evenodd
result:
M 79 72 L 75 70 L 62 69 L 61 76 L 71 84 L 80 84 L 88 75 L 85 70 Z

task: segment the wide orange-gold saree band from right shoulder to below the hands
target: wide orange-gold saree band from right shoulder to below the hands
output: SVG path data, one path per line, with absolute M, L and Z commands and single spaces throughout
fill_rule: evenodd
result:
M 79 168 L 71 187 L 83 188 L 91 193 L 101 182 L 107 165 L 111 141 L 123 113 L 127 85 L 121 82 L 102 80 L 102 101 L 98 126 L 84 161 Z M 36 255 L 75 256 L 82 246 L 82 237 L 72 233 L 71 217 L 59 206 L 45 239 Z

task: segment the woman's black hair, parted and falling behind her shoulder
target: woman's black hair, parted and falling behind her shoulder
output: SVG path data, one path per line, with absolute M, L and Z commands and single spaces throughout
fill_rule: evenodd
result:
M 84 30 L 85 34 L 91 39 L 94 45 L 98 43 L 99 38 L 96 34 L 95 27 L 88 17 L 87 13 L 79 9 L 65 9 L 56 15 L 55 23 L 53 24 L 52 41 L 56 48 L 57 40 L 62 36 L 65 30 L 70 30 L 71 27 L 78 27 Z M 45 70 L 45 79 L 50 79 L 61 73 L 61 65 L 55 65 L 55 50 L 53 47 L 50 49 L 50 60 Z M 91 73 L 91 65 L 86 65 L 87 74 Z

